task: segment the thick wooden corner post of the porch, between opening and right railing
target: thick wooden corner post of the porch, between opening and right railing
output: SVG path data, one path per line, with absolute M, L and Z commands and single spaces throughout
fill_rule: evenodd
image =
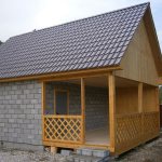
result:
M 116 83 L 112 72 L 108 76 L 109 85 L 109 135 L 110 135 L 110 149 L 114 152 L 116 148 Z

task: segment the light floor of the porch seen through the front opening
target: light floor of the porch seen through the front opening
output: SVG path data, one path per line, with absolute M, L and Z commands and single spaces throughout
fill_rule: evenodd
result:
M 85 131 L 85 144 L 108 145 L 109 144 L 108 129 L 102 127 L 97 130 Z

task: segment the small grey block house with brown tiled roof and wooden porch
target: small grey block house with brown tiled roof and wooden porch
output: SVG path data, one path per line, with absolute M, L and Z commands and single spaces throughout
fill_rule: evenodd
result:
M 161 65 L 149 3 L 12 37 L 0 46 L 1 144 L 120 154 L 148 141 Z

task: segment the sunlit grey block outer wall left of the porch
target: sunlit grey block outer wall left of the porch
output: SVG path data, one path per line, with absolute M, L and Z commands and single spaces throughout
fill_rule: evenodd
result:
M 0 140 L 42 145 L 41 83 L 0 83 Z

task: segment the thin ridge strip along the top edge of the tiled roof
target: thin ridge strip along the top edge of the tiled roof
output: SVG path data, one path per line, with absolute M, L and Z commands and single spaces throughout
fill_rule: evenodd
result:
M 24 35 L 29 35 L 29 33 L 33 33 L 33 32 L 38 32 L 38 31 L 41 31 L 41 30 L 50 29 L 50 28 L 60 27 L 60 26 L 64 26 L 64 25 L 72 24 L 75 22 L 80 22 L 80 21 L 83 21 L 83 19 L 89 19 L 89 18 L 93 18 L 93 17 L 110 14 L 110 13 L 113 13 L 113 12 L 119 12 L 119 11 L 122 11 L 122 10 L 127 10 L 127 9 L 131 9 L 131 8 L 136 8 L 136 6 L 139 6 L 139 5 L 145 5 L 145 4 L 150 5 L 150 2 L 144 2 L 144 3 L 140 3 L 140 4 L 135 4 L 135 5 L 131 5 L 131 6 L 117 9 L 117 10 L 112 10 L 112 11 L 109 11 L 109 12 L 106 12 L 106 13 L 92 15 L 92 16 L 89 16 L 89 17 L 84 17 L 84 18 L 80 18 L 80 19 L 76 19 L 76 21 L 71 21 L 71 22 L 67 22 L 67 23 L 63 23 L 63 24 L 58 24 L 58 25 L 54 25 L 54 26 L 42 28 L 42 29 L 38 29 L 38 30 L 35 29 L 32 31 L 28 31 L 28 32 L 25 32 L 25 33 L 21 33 L 21 35 L 16 35 L 16 36 L 10 37 L 9 39 L 13 39 L 13 38 L 16 38 L 16 37 L 21 37 L 21 36 L 24 36 Z

